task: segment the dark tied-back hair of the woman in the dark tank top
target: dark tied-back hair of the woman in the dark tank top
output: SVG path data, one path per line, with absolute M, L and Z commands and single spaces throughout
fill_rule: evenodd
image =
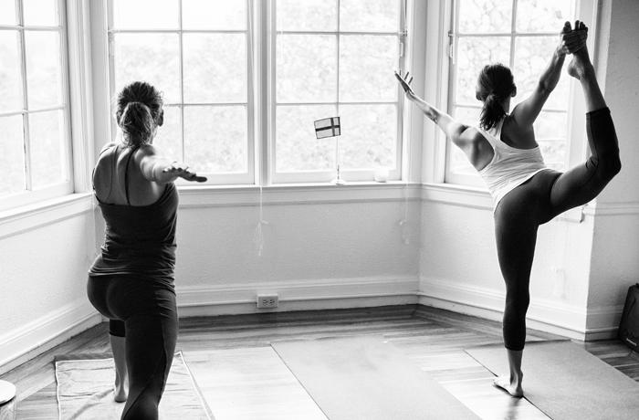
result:
M 149 83 L 134 81 L 120 91 L 115 118 L 127 145 L 148 144 L 162 121 L 162 94 Z

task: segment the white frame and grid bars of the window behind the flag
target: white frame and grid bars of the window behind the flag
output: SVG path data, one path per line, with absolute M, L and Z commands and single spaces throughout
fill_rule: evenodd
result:
M 339 98 L 339 71 L 340 71 L 340 37 L 352 36 L 352 35 L 379 35 L 379 36 L 397 36 L 398 39 L 398 51 L 397 57 L 398 68 L 404 70 L 406 63 L 410 62 L 409 42 L 408 42 L 408 22 L 411 19 L 409 14 L 409 5 L 407 0 L 398 0 L 400 3 L 400 22 L 399 31 L 397 32 L 359 32 L 359 31 L 340 31 L 338 26 L 335 31 L 279 31 L 277 27 L 277 0 L 267 1 L 267 13 L 264 14 L 264 21 L 266 22 L 267 34 L 263 33 L 262 36 L 267 39 L 267 139 L 266 144 L 263 145 L 264 150 L 267 150 L 267 183 L 266 184 L 304 184 L 304 183 L 331 183 L 336 177 L 336 169 L 333 168 L 329 171 L 326 170 L 314 170 L 314 171 L 297 171 L 297 172 L 277 172 L 277 142 L 276 142 L 276 117 L 278 105 L 286 106 L 303 106 L 303 105 L 329 105 L 336 106 L 337 113 L 340 114 L 340 105 L 395 105 L 397 107 L 397 127 L 396 127 L 396 143 L 395 143 L 395 168 L 389 170 L 389 181 L 399 181 L 403 179 L 403 166 L 405 161 L 405 126 L 407 125 L 405 109 L 405 100 L 403 99 L 403 90 L 397 85 L 397 100 L 394 102 L 345 102 L 340 101 Z M 340 13 L 340 0 L 336 0 L 338 8 L 338 20 Z M 264 12 L 263 12 L 264 13 Z M 277 37 L 278 34 L 318 34 L 329 35 L 337 37 L 337 78 L 338 78 L 338 93 L 337 102 L 308 102 L 308 103 L 288 103 L 277 101 Z M 327 115 L 327 117 L 329 117 Z M 326 141 L 331 141 L 326 139 Z M 339 140 L 338 140 L 339 141 Z M 337 141 L 334 141 L 337 142 Z M 335 146 L 337 148 L 337 146 Z M 338 151 L 335 150 L 337 153 Z M 372 182 L 374 179 L 374 169 L 356 169 L 356 170 L 343 170 L 340 169 L 340 177 L 346 182 Z

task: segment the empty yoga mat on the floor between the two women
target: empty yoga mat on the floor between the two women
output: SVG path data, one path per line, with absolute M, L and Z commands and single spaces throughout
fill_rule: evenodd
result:
M 271 345 L 330 420 L 479 418 L 382 337 Z

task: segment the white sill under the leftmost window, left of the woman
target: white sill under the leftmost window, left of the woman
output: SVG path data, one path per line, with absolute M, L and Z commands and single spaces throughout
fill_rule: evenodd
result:
M 68 194 L 0 212 L 0 239 L 46 226 L 93 209 L 93 194 Z

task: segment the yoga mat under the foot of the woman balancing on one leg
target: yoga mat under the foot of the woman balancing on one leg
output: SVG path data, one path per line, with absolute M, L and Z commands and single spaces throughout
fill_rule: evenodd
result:
M 501 345 L 466 350 L 496 375 L 508 373 Z M 570 341 L 527 343 L 524 396 L 553 420 L 636 420 L 639 383 Z

